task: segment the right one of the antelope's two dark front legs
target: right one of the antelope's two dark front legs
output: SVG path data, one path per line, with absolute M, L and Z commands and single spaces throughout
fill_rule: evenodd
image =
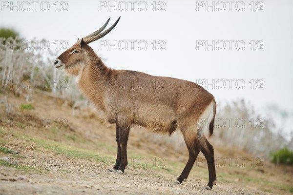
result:
M 120 166 L 117 173 L 124 173 L 127 166 L 127 141 L 129 136 L 130 125 L 119 125 L 119 143 L 121 148 Z M 118 160 L 118 159 L 117 159 Z

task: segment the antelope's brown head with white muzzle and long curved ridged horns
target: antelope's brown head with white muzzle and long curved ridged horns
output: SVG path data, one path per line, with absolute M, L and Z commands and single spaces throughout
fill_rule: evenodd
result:
M 71 75 L 78 75 L 80 69 L 84 66 L 86 60 L 93 54 L 93 50 L 87 44 L 95 40 L 101 39 L 106 34 L 108 34 L 118 23 L 119 19 L 107 30 L 102 32 L 107 26 L 110 18 L 106 23 L 92 34 L 78 39 L 77 42 L 72 45 L 69 49 L 63 52 L 54 62 L 55 68 L 62 70 L 64 69 L 67 73 Z

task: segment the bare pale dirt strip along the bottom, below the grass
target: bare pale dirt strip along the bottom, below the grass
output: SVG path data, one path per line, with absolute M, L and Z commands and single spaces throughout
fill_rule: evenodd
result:
M 49 167 L 47 176 L 32 174 L 27 181 L 5 181 L 5 178 L 17 178 L 21 172 L 4 167 L 1 169 L 1 194 L 263 194 L 257 190 L 239 188 L 233 185 L 218 185 L 211 191 L 204 189 L 207 181 L 200 178 L 183 185 L 172 183 L 175 177 L 154 176 L 152 170 L 127 169 L 125 174 L 106 172 L 93 163 L 70 162 L 68 172 L 60 173 L 59 168 Z M 4 176 L 6 175 L 6 176 Z

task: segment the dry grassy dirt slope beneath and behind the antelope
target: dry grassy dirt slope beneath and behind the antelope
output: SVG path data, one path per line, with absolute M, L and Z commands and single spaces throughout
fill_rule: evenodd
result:
M 218 161 L 217 185 L 211 191 L 204 188 L 208 168 L 201 154 L 187 182 L 175 184 L 188 159 L 182 138 L 156 138 L 138 127 L 129 136 L 125 173 L 110 173 L 116 154 L 115 127 L 104 124 L 100 113 L 88 107 L 73 113 L 70 101 L 38 93 L 26 102 L 22 95 L 1 92 L 0 108 L 0 157 L 10 158 L 0 161 L 1 195 L 293 193 L 291 166 L 276 167 L 216 145 L 215 159 L 226 163 Z M 235 163 L 238 157 L 245 165 Z

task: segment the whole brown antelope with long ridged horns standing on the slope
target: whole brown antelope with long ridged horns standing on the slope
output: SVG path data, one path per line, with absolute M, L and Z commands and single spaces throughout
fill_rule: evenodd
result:
M 127 165 L 127 140 L 130 127 L 138 124 L 151 132 L 171 134 L 180 129 L 188 148 L 188 162 L 175 183 L 187 180 L 189 172 L 201 151 L 208 162 L 211 190 L 216 185 L 214 151 L 204 134 L 209 128 L 213 134 L 216 101 L 200 85 L 177 78 L 155 77 L 130 70 L 113 70 L 88 46 L 107 35 L 120 17 L 107 30 L 110 18 L 92 34 L 78 39 L 54 63 L 59 70 L 78 77 L 78 86 L 84 96 L 107 120 L 116 124 L 117 158 L 110 172 L 123 174 Z M 210 121 L 210 122 L 209 122 Z

